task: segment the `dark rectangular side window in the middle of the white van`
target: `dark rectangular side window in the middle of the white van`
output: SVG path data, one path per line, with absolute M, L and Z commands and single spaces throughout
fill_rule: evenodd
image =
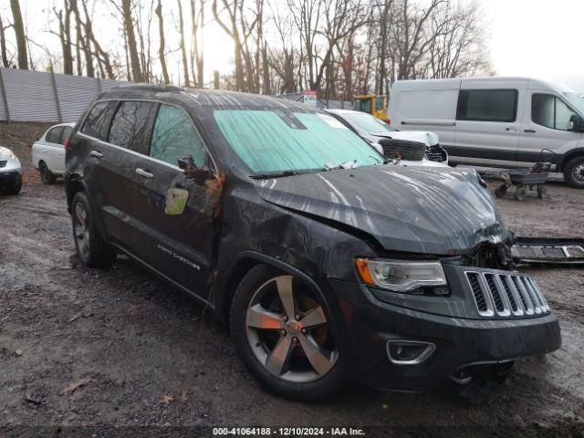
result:
M 518 94 L 516 89 L 461 89 L 456 120 L 515 121 Z

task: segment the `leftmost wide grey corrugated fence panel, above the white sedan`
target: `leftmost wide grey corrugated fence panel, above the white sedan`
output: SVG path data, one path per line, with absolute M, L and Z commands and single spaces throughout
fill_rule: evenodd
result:
M 50 73 L 2 68 L 10 120 L 58 121 Z

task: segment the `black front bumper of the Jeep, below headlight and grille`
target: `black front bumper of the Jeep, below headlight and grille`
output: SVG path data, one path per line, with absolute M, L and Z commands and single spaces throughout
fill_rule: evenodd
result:
M 348 358 L 351 375 L 371 388 L 429 391 L 466 366 L 545 354 L 561 345 L 553 313 L 532 318 L 451 317 L 383 302 L 359 283 L 329 281 L 339 299 L 341 355 Z M 421 363 L 396 364 L 388 355 L 390 340 L 418 341 L 435 349 Z

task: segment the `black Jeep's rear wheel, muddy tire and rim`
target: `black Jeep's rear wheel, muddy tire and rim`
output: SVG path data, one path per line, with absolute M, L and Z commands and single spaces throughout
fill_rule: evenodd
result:
M 99 235 L 91 206 L 85 193 L 78 192 L 71 203 L 71 219 L 75 248 L 83 265 L 88 267 L 110 267 L 116 253 Z

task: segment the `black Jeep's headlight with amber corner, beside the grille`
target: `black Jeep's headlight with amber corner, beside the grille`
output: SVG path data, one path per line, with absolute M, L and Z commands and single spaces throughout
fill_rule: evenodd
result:
M 365 283 L 395 292 L 447 285 L 440 262 L 358 258 L 355 265 Z

